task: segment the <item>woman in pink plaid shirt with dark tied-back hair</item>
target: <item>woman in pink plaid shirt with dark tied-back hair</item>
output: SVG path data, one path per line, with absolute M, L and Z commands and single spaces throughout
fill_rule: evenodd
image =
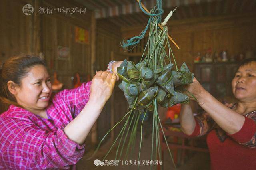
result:
M 91 82 L 52 96 L 44 61 L 8 59 L 0 71 L 0 99 L 10 104 L 0 115 L 0 169 L 75 169 L 115 81 L 114 73 L 98 71 Z

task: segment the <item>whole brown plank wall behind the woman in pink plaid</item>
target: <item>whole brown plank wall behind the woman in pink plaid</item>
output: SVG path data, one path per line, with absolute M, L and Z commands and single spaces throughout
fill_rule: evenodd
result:
M 64 88 L 72 88 L 72 77 L 80 73 L 82 81 L 87 75 L 95 75 L 96 70 L 106 70 L 112 59 L 121 60 L 119 56 L 121 32 L 120 27 L 108 21 L 98 21 L 94 13 L 86 10 L 86 14 L 39 14 L 26 16 L 22 12 L 25 4 L 39 7 L 58 8 L 60 6 L 84 8 L 74 1 L 62 0 L 1 0 L 0 1 L 0 61 L 19 54 L 43 53 L 50 69 L 58 73 L 58 79 L 64 83 Z M 75 27 L 79 26 L 89 31 L 89 44 L 75 42 Z M 97 29 L 96 29 L 97 28 Z M 58 59 L 58 46 L 70 49 L 69 60 Z M 124 100 L 123 105 L 114 105 Z M 0 111 L 6 107 L 0 103 Z M 115 93 L 104 107 L 97 123 L 88 136 L 90 141 L 97 143 L 107 130 L 120 120 L 126 111 L 126 101 L 123 93 L 115 89 Z M 116 115 L 113 115 L 116 113 Z M 112 115 L 111 115 L 112 114 Z M 118 127 L 119 128 L 119 127 Z M 118 132 L 119 130 L 117 130 Z M 116 136 L 116 134 L 112 133 Z

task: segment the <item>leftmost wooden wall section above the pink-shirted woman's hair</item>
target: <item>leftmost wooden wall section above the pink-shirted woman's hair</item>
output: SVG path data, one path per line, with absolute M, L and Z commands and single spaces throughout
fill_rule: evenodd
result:
M 21 53 L 33 53 L 33 16 L 26 16 L 22 7 L 31 1 L 0 1 L 0 61 Z

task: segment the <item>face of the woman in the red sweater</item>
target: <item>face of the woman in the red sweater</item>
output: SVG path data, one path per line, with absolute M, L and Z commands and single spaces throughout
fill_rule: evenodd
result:
M 256 62 L 238 68 L 232 80 L 232 92 L 239 101 L 256 101 Z

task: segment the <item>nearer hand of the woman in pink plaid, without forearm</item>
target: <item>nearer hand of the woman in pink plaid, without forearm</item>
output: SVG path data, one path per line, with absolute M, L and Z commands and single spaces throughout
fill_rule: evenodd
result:
M 104 106 L 113 92 L 115 83 L 115 74 L 108 71 L 98 71 L 92 79 L 90 101 Z

